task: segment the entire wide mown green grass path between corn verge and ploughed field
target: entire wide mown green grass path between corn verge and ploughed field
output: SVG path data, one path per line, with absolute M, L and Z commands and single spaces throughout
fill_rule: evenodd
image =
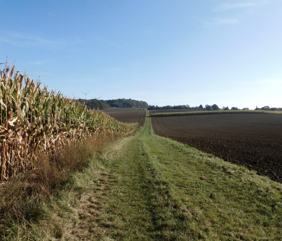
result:
M 100 158 L 63 240 L 282 240 L 282 185 L 156 136 Z

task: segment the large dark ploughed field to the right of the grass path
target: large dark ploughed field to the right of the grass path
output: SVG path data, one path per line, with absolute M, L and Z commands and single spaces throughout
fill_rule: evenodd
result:
M 282 115 L 221 114 L 152 118 L 169 137 L 282 182 Z

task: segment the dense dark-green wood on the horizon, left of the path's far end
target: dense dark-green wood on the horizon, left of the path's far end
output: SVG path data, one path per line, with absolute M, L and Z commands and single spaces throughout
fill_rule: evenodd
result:
M 148 103 L 145 101 L 136 101 L 131 99 L 116 99 L 116 100 L 83 100 L 78 99 L 78 102 L 84 103 L 90 109 L 104 110 L 111 107 L 116 108 L 148 108 Z

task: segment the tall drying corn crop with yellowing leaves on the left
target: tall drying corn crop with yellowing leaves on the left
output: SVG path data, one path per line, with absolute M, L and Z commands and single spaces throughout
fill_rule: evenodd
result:
M 89 136 L 137 128 L 41 88 L 15 72 L 15 66 L 0 70 L 0 75 L 0 181 L 31 170 L 42 153 L 56 153 Z

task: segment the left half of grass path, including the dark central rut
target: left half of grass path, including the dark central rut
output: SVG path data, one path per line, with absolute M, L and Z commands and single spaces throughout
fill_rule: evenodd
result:
M 82 198 L 69 240 L 185 240 L 185 212 L 148 155 L 140 138 L 145 129 L 100 160 L 96 187 Z

